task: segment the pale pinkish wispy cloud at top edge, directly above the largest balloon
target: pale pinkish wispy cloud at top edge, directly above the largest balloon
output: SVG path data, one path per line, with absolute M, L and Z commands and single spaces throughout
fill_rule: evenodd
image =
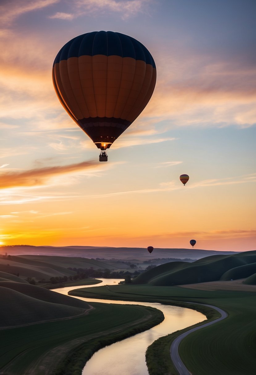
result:
M 57 12 L 49 18 L 59 18 L 61 20 L 73 20 L 84 15 L 105 15 L 108 13 L 119 13 L 123 20 L 134 17 L 139 13 L 148 12 L 148 4 L 151 0 L 74 0 L 72 2 L 72 12 Z M 74 7 L 76 8 L 74 12 Z

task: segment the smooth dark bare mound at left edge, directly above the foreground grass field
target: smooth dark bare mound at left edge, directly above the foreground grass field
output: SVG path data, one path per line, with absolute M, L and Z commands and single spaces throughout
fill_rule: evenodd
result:
M 20 326 L 83 314 L 85 309 L 45 302 L 15 290 L 0 287 L 0 327 Z

